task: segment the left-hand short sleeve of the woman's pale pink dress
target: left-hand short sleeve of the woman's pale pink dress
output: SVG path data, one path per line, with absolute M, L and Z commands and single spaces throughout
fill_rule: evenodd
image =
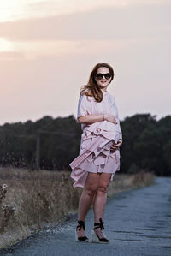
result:
M 91 115 L 91 100 L 86 95 L 81 95 L 78 104 L 77 118 L 80 116 Z

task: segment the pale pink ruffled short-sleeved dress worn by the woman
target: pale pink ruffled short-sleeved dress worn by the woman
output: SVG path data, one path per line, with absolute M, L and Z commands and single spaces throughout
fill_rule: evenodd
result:
M 102 91 L 103 92 L 103 91 Z M 75 187 L 84 187 L 88 172 L 111 173 L 120 170 L 120 150 L 110 151 L 110 146 L 122 139 L 118 110 L 115 98 L 109 92 L 103 92 L 99 103 L 91 96 L 80 96 L 77 118 L 85 115 L 110 114 L 116 117 L 117 124 L 108 121 L 81 124 L 83 133 L 80 141 L 80 153 L 69 164 L 72 168 L 71 178 Z

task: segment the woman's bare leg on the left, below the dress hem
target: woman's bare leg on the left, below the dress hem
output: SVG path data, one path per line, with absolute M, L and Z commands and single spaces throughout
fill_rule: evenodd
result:
M 99 175 L 97 173 L 88 173 L 85 182 L 85 188 L 80 196 L 79 210 L 78 210 L 78 220 L 85 221 L 87 212 L 91 207 L 92 199 L 97 191 Z M 84 236 L 85 232 L 83 229 L 80 230 L 79 236 Z

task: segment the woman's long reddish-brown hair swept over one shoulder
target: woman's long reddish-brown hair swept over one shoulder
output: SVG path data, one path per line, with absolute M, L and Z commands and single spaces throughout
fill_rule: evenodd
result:
M 101 102 L 103 100 L 103 92 L 95 80 L 98 68 L 109 68 L 111 81 L 114 79 L 114 70 L 108 63 L 97 63 L 97 65 L 91 71 L 87 85 L 81 87 L 80 95 L 85 94 L 86 96 L 94 97 L 97 102 Z

